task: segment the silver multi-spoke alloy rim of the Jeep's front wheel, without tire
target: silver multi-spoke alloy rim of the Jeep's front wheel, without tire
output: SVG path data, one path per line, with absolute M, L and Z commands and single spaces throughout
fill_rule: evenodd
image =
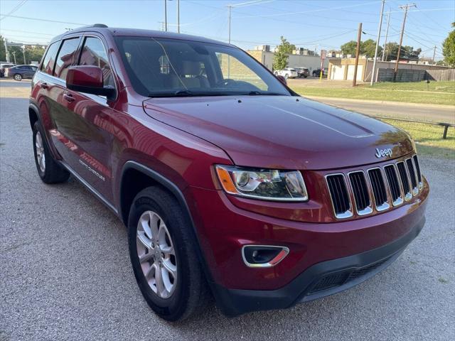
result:
M 156 212 L 142 213 L 136 242 L 142 273 L 151 290 L 160 298 L 171 297 L 178 277 L 176 253 L 166 224 Z

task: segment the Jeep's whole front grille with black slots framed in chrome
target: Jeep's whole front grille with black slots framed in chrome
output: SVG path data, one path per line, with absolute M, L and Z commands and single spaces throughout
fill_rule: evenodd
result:
M 326 175 L 333 212 L 338 219 L 368 215 L 402 205 L 422 190 L 417 155 L 368 170 Z M 351 200 L 352 204 L 351 204 Z

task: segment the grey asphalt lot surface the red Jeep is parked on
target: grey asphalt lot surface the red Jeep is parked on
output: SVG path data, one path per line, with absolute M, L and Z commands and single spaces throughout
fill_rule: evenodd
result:
M 289 310 L 212 305 L 171 324 L 142 299 L 117 217 L 73 179 L 38 178 L 27 105 L 0 98 L 0 340 L 455 339 L 454 161 L 421 158 L 427 224 L 378 276 Z

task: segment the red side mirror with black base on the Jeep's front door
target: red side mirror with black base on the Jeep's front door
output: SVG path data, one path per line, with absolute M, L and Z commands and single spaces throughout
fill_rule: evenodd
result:
M 100 67 L 78 65 L 68 69 L 66 74 L 66 87 L 77 92 L 98 94 L 112 97 L 115 90 L 103 85 L 103 75 Z

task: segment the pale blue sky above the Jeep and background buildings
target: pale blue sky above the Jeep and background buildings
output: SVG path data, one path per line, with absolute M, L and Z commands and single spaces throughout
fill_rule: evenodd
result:
M 299 47 L 333 49 L 348 40 L 355 40 L 359 22 L 363 23 L 366 33 L 363 40 L 375 39 L 378 30 L 380 0 L 262 0 L 245 5 L 250 1 L 181 0 L 181 32 L 227 41 L 228 5 L 234 6 L 232 43 L 245 49 L 262 44 L 277 45 L 280 36 Z M 441 44 L 451 30 L 451 22 L 455 21 L 455 1 L 410 2 L 417 4 L 417 9 L 408 13 L 404 45 L 420 47 L 424 51 L 422 54 L 428 57 L 432 56 L 432 48 L 437 45 L 437 59 L 441 58 Z M 168 0 L 167 4 L 168 31 L 176 31 L 177 1 Z M 388 41 L 399 40 L 403 18 L 399 6 L 402 4 L 406 1 L 385 2 L 385 12 L 391 11 Z M 162 27 L 160 22 L 164 21 L 164 0 L 1 0 L 0 13 L 11 13 L 11 16 L 0 17 L 2 36 L 25 43 L 45 43 L 66 28 L 76 28 L 80 24 L 106 23 L 112 27 L 159 30 Z M 386 21 L 387 13 L 381 43 Z

